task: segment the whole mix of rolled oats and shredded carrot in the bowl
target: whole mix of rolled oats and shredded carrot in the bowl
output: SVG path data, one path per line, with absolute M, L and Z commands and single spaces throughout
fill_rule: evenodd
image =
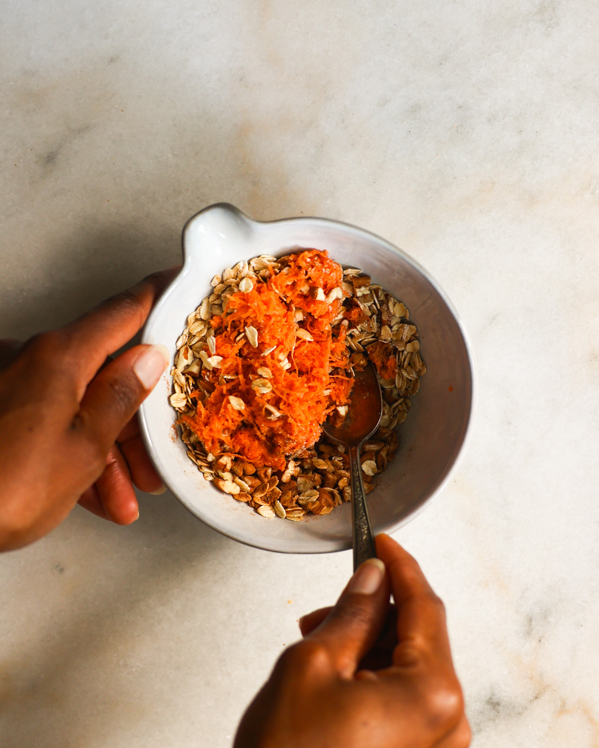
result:
M 264 517 L 300 521 L 349 501 L 349 459 L 321 424 L 343 420 L 370 359 L 383 387 L 380 428 L 362 447 L 372 491 L 426 372 L 404 304 L 317 250 L 255 257 L 211 284 L 171 370 L 171 405 L 204 479 Z

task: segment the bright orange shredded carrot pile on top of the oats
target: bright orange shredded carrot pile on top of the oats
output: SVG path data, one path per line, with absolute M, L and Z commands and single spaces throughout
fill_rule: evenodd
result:
M 211 319 L 221 360 L 204 367 L 192 393 L 197 412 L 180 420 L 214 455 L 283 470 L 285 458 L 312 447 L 329 413 L 348 402 L 353 372 L 346 328 L 333 334 L 331 325 L 343 311 L 341 266 L 318 250 L 278 263 Z M 247 328 L 257 332 L 257 346 Z

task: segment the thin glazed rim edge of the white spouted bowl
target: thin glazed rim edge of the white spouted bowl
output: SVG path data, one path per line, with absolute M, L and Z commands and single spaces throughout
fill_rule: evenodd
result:
M 428 283 L 431 283 L 431 286 L 434 287 L 434 289 L 437 291 L 437 293 L 440 295 L 440 297 L 445 302 L 446 306 L 448 307 L 449 311 L 451 312 L 451 315 L 454 317 L 454 320 L 457 324 L 457 327 L 460 330 L 460 334 L 462 335 L 464 346 L 466 348 L 466 357 L 468 359 L 468 367 L 469 367 L 469 375 L 470 375 L 470 398 L 469 398 L 469 412 L 466 420 L 466 427 L 463 432 L 463 438 L 461 441 L 461 444 L 457 450 L 457 453 L 454 456 L 453 462 L 451 463 L 451 466 L 447 470 L 445 476 L 443 476 L 443 479 L 440 480 L 440 482 L 437 484 L 437 486 L 434 488 L 433 491 L 431 491 L 431 494 L 422 502 L 420 506 L 418 506 L 416 509 L 413 510 L 413 512 L 410 512 L 407 517 L 404 517 L 400 521 L 397 522 L 391 522 L 385 527 L 383 527 L 383 530 L 380 530 L 381 533 L 395 533 L 398 530 L 401 529 L 401 527 L 404 527 L 409 522 L 413 521 L 418 517 L 421 512 L 423 512 L 428 506 L 431 505 L 431 503 L 437 498 L 437 496 L 443 491 L 443 488 L 446 487 L 446 485 L 449 483 L 451 478 L 454 476 L 455 471 L 457 468 L 459 468 L 463 456 L 466 454 L 466 449 L 469 446 L 470 439 L 472 438 L 472 424 L 474 423 L 474 417 L 475 417 L 475 408 L 476 408 L 476 402 L 477 402 L 477 393 L 478 393 L 478 381 L 477 381 L 477 371 L 476 371 L 476 364 L 475 364 L 475 357 L 474 352 L 472 349 L 472 344 L 470 343 L 468 333 L 466 331 L 466 328 L 463 325 L 463 322 L 460 318 L 460 315 L 457 313 L 456 308 L 454 307 L 454 304 L 451 302 L 451 299 L 446 294 L 446 292 L 443 290 L 443 288 L 440 286 L 439 283 L 432 277 L 432 275 L 426 270 L 419 262 L 418 260 L 415 260 L 413 257 L 411 257 L 409 254 L 404 252 L 402 249 L 396 247 L 391 242 L 389 242 L 387 239 L 383 239 L 383 237 L 378 236 L 372 231 L 368 231 L 367 229 L 360 228 L 358 226 L 355 226 L 353 224 L 349 224 L 345 221 L 335 221 L 332 218 L 320 218 L 318 216 L 308 216 L 308 215 L 301 215 L 291 218 L 276 218 L 273 221 L 258 221 L 255 218 L 250 218 L 249 215 L 247 215 L 245 212 L 240 210 L 234 205 L 231 205 L 231 203 L 226 202 L 219 202 L 219 203 L 213 203 L 209 206 L 206 206 L 205 208 L 201 209 L 194 215 L 192 215 L 191 218 L 189 218 L 186 223 L 183 225 L 183 230 L 181 232 L 181 248 L 183 251 L 183 264 L 181 266 L 180 272 L 177 273 L 177 275 L 173 278 L 171 283 L 168 284 L 168 286 L 162 291 L 161 295 L 159 296 L 158 300 L 154 304 L 152 310 L 150 311 L 150 314 L 148 315 L 148 319 L 146 319 L 144 328 L 142 330 L 142 343 L 147 342 L 145 340 L 147 331 L 150 328 L 153 319 L 155 316 L 157 316 L 162 309 L 162 305 L 165 303 L 165 299 L 168 295 L 170 295 L 171 290 L 174 288 L 174 286 L 177 286 L 177 283 L 180 281 L 180 278 L 183 276 L 183 272 L 186 269 L 186 265 L 189 262 L 189 256 L 186 254 L 185 251 L 185 240 L 186 240 L 186 233 L 189 230 L 190 225 L 201 215 L 204 215 L 204 213 L 213 211 L 215 209 L 224 209 L 228 212 L 231 212 L 231 214 L 237 215 L 239 218 L 242 218 L 243 221 L 248 222 L 249 224 L 258 224 L 258 225 L 270 225 L 270 224 L 282 224 L 282 223 L 311 223 L 318 226 L 319 224 L 322 227 L 341 227 L 342 229 L 346 230 L 347 233 L 351 233 L 354 236 L 359 236 L 365 239 L 376 241 L 378 244 L 383 245 L 387 250 L 391 251 L 392 254 L 399 255 L 405 262 L 407 262 L 410 266 L 413 266 L 419 273 L 421 273 L 425 279 L 428 281 Z M 168 488 L 169 491 L 173 494 L 173 496 L 179 501 L 182 506 L 185 507 L 185 509 L 191 514 L 193 517 L 198 519 L 199 521 L 206 524 L 208 527 L 212 528 L 213 530 L 216 530 L 221 535 L 224 535 L 225 537 L 230 538 L 231 540 L 235 540 L 237 542 L 243 543 L 243 545 L 249 545 L 252 548 L 258 548 L 262 551 L 270 551 L 271 553 L 283 553 L 283 554 L 326 554 L 326 553 L 336 553 L 340 551 L 347 551 L 352 547 L 351 541 L 346 542 L 339 542 L 337 548 L 323 548 L 322 550 L 305 550 L 302 548 L 268 548 L 267 545 L 261 544 L 260 542 L 252 542 L 251 539 L 246 539 L 245 537 L 238 536 L 234 533 L 231 533 L 230 530 L 227 530 L 225 527 L 221 526 L 218 522 L 210 521 L 210 519 L 204 518 L 203 516 L 198 516 L 192 509 L 187 506 L 187 504 L 177 495 L 177 493 L 174 491 L 173 488 L 171 488 L 171 485 L 169 485 L 168 482 L 168 471 L 163 470 L 162 468 L 162 460 L 159 459 L 159 456 L 156 454 L 156 450 L 153 447 L 152 440 L 150 438 L 150 432 L 148 429 L 148 422 L 145 417 L 145 408 L 148 407 L 147 401 L 142 402 L 142 405 L 139 408 L 138 411 L 138 419 L 139 419 L 139 428 L 142 433 L 142 440 L 144 442 L 145 448 L 148 452 L 148 456 L 150 457 L 150 461 L 153 463 L 154 467 L 156 468 L 157 472 L 159 473 L 159 476 L 162 478 L 162 480 L 165 483 L 166 488 Z

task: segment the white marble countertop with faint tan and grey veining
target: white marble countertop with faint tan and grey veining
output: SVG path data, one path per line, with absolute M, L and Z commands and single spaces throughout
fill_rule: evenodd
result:
M 475 748 L 599 745 L 599 5 L 7 0 L 0 334 L 180 255 L 217 200 L 404 248 L 472 338 L 454 481 L 398 533 Z M 169 494 L 0 558 L 0 743 L 228 747 L 350 554 L 231 542 Z

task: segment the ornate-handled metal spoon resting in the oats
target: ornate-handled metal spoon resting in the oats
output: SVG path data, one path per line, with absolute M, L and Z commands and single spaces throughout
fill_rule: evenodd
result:
M 344 444 L 350 456 L 351 504 L 353 515 L 353 571 L 366 559 L 375 558 L 374 537 L 362 482 L 360 449 L 378 429 L 383 414 L 383 397 L 377 371 L 371 362 L 356 378 L 350 394 L 347 416 L 340 426 L 333 417 L 323 426 L 323 432 L 338 444 Z

